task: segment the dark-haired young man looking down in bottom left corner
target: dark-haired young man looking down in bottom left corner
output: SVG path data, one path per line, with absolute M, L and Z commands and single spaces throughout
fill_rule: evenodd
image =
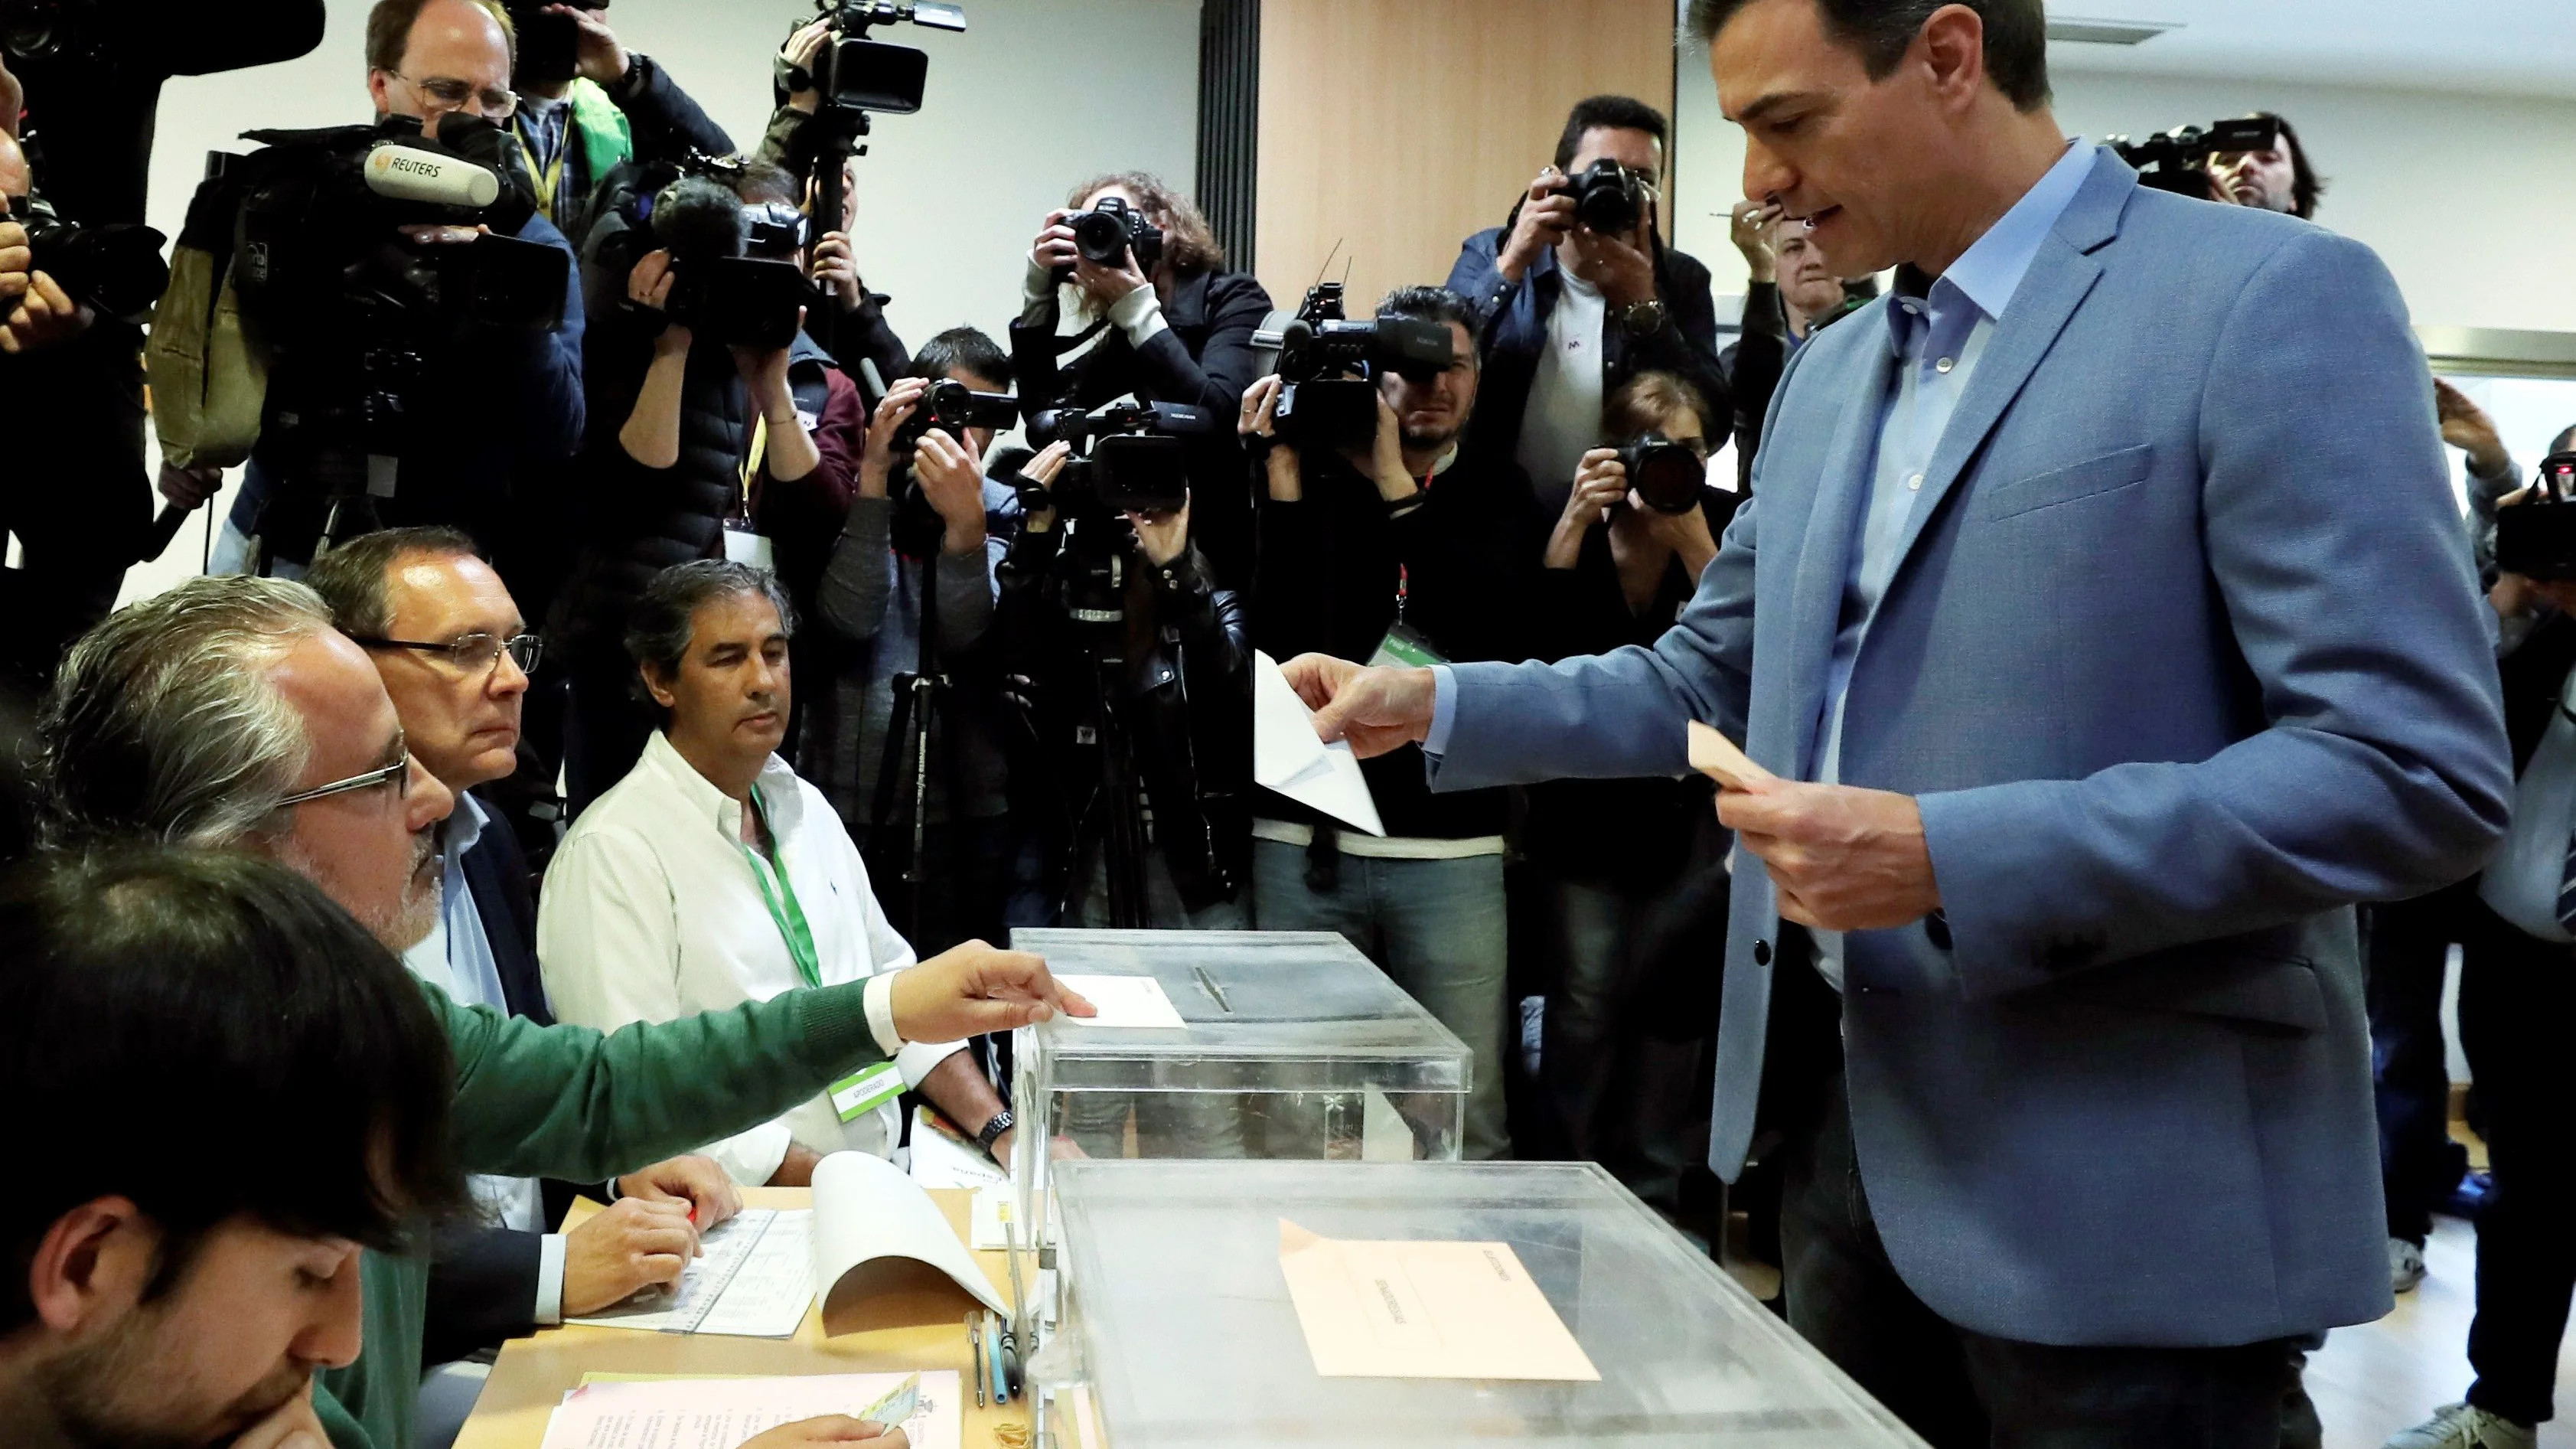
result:
M 453 1091 L 410 972 L 289 869 L 142 848 L 0 877 L 0 1098 L 46 1163 L 0 1196 L 10 1449 L 322 1449 L 363 1250 L 469 1201 Z M 100 1150 L 175 1109 L 149 1152 Z M 742 1449 L 853 1441 L 904 1444 L 811 1418 Z

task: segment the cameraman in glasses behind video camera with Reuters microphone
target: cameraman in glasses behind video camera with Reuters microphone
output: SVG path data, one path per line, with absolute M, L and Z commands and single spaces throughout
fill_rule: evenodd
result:
M 366 62 L 374 126 L 252 131 L 268 150 L 191 201 L 152 338 L 162 456 L 234 462 L 224 400 L 250 389 L 250 469 L 216 572 L 294 575 L 317 547 L 446 523 L 510 578 L 523 495 L 551 487 L 582 438 L 572 245 L 505 129 L 510 13 L 379 0 Z M 224 291 L 265 338 L 265 394 L 227 376 L 242 351 L 219 345 Z

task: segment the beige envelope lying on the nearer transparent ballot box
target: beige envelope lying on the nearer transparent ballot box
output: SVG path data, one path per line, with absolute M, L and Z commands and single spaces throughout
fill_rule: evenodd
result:
M 1363 1243 L 1283 1217 L 1280 1274 L 1327 1379 L 1602 1377 L 1510 1243 Z

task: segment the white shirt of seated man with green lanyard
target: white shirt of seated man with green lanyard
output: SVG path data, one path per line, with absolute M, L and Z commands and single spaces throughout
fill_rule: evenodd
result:
M 770 755 L 752 786 L 775 859 L 814 933 L 819 985 L 899 972 L 912 946 L 886 920 L 858 846 L 819 789 Z M 742 804 L 698 773 L 662 732 L 608 794 L 564 835 L 536 910 L 536 957 L 562 1021 L 616 1031 L 629 1021 L 672 1021 L 729 1011 L 796 990 L 804 977 L 762 895 L 765 864 L 742 843 Z M 871 1024 L 891 1042 L 889 990 L 871 990 Z M 904 1042 L 894 1065 L 907 1088 L 963 1042 Z M 786 1160 L 788 1142 L 811 1152 L 858 1150 L 886 1158 L 902 1140 L 896 1104 L 840 1122 L 829 1093 L 714 1142 L 734 1181 L 760 1186 Z

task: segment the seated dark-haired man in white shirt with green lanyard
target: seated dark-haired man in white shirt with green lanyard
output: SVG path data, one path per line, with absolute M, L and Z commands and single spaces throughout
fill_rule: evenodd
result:
M 775 753 L 793 627 L 768 570 L 724 559 L 662 570 L 636 603 L 626 652 L 662 730 L 546 871 L 536 954 L 564 1021 L 611 1031 L 912 964 L 832 802 Z M 891 1155 L 907 1088 L 1007 1160 L 1010 1111 L 963 1042 L 907 1042 L 706 1152 L 734 1181 L 804 1186 L 827 1152 Z

